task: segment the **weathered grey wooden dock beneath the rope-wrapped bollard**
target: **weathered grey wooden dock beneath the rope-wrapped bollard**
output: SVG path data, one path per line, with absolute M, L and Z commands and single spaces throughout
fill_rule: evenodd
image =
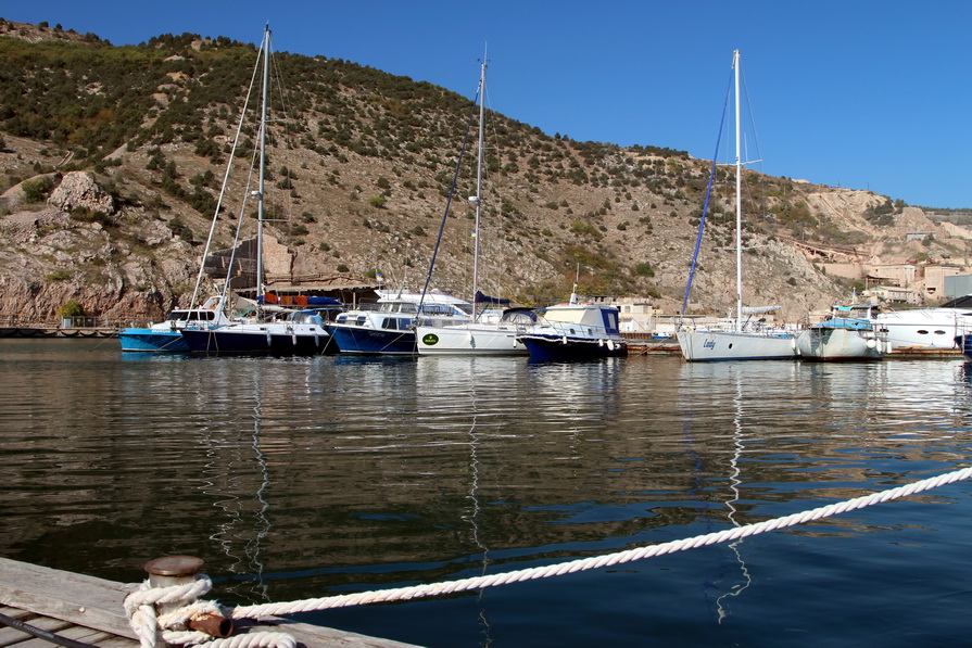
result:
M 122 605 L 136 587 L 0 558 L 0 648 L 138 648 Z M 270 630 L 304 648 L 415 648 L 286 619 L 237 623 L 235 634 Z

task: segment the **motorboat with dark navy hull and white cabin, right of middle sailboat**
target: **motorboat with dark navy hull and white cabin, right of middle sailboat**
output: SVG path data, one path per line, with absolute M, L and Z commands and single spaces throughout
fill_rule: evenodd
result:
M 569 303 L 547 307 L 517 341 L 535 363 L 626 356 L 628 345 L 621 340 L 619 317 L 617 306 L 578 303 L 573 293 Z

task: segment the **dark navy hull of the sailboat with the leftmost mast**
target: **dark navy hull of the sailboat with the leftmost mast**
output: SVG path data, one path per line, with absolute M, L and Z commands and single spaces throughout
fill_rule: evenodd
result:
M 313 356 L 333 352 L 325 331 L 275 331 L 252 325 L 247 329 L 184 330 L 189 351 L 200 355 Z

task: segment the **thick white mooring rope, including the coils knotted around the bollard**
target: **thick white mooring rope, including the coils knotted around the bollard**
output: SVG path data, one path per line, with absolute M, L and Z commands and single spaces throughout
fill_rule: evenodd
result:
M 820 508 L 794 513 L 783 518 L 775 518 L 747 524 L 745 526 L 734 526 L 715 533 L 697 535 L 686 539 L 673 541 L 660 545 L 651 545 L 640 547 L 638 549 L 629 549 L 617 554 L 607 554 L 605 556 L 594 556 L 580 560 L 571 560 L 546 567 L 534 567 L 522 569 L 502 574 L 492 574 L 477 576 L 471 579 L 462 579 L 458 581 L 446 581 L 444 583 L 432 583 L 429 585 L 414 585 L 411 587 L 397 587 L 394 589 L 379 589 L 373 592 L 362 592 L 357 594 L 345 594 L 340 596 L 329 596 L 323 598 L 308 598 L 303 600 L 281 602 L 281 603 L 264 603 L 258 606 L 242 606 L 235 608 L 230 615 L 233 619 L 261 619 L 266 617 L 279 617 L 287 614 L 295 614 L 298 612 L 312 612 L 315 610 L 327 610 L 331 608 L 344 608 L 351 606 L 363 606 L 377 602 L 389 602 L 394 600 L 411 600 L 427 596 L 441 596 L 443 594 L 454 594 L 457 592 L 468 592 L 470 589 L 481 589 L 484 587 L 493 587 L 495 585 L 508 585 L 510 583 L 520 583 L 523 581 L 532 581 L 535 579 L 546 579 L 550 576 L 559 576 L 563 574 L 572 574 L 580 571 L 599 569 L 602 567 L 610 567 L 622 564 L 633 560 L 643 558 L 652 558 L 654 556 L 664 556 L 685 549 L 694 549 L 707 545 L 731 542 L 734 539 L 777 531 L 822 520 L 838 513 L 861 509 L 875 504 L 892 501 L 908 497 L 923 491 L 944 486 L 955 482 L 968 480 L 972 478 L 972 467 L 956 470 L 941 474 L 938 477 L 914 482 L 905 486 L 898 486 L 880 493 L 872 493 L 855 499 L 847 499 L 836 504 L 830 504 Z M 200 584 L 202 582 L 202 584 Z M 162 627 L 164 632 L 161 636 L 172 644 L 198 644 L 206 648 L 249 648 L 249 647 L 277 647 L 292 648 L 295 641 L 289 635 L 282 633 L 251 633 L 248 635 L 239 635 L 226 639 L 215 639 L 205 644 L 199 644 L 200 640 L 211 639 L 202 633 L 180 632 L 185 627 L 185 622 L 193 613 L 197 613 L 204 606 L 213 606 L 206 601 L 199 601 L 187 605 L 186 608 L 175 612 L 164 614 L 157 620 L 155 619 L 155 602 L 174 602 L 181 598 L 186 598 L 187 603 L 194 600 L 195 596 L 204 594 L 211 586 L 210 580 L 200 574 L 197 582 L 190 585 L 181 585 L 166 588 L 149 588 L 148 583 L 143 583 L 141 589 L 129 595 L 125 600 L 125 609 L 131 621 L 131 626 L 136 630 L 141 638 L 142 646 L 146 648 L 154 647 L 156 640 L 156 626 Z M 207 609 L 207 608 L 205 608 Z M 192 636 L 189 636 L 192 635 Z M 248 639 L 249 637 L 249 639 Z M 243 641 L 243 643 L 237 643 Z M 253 643 L 245 643 L 253 641 Z M 260 643 L 266 641 L 266 643 Z M 279 643 L 277 643 L 279 641 Z

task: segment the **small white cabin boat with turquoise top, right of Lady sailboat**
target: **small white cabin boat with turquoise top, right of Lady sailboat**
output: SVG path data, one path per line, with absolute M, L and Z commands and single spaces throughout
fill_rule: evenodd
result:
M 876 304 L 835 305 L 820 323 L 796 336 L 796 351 L 805 360 L 880 360 L 889 351 L 887 335 L 875 326 Z

